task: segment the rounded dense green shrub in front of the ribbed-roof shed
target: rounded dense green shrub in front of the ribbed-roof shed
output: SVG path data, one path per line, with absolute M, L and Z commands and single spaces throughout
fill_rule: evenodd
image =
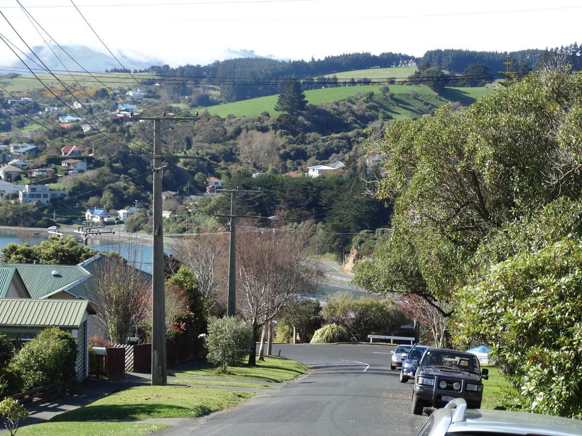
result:
M 32 389 L 74 377 L 76 360 L 73 335 L 53 327 L 20 349 L 12 362 L 23 372 L 23 388 Z

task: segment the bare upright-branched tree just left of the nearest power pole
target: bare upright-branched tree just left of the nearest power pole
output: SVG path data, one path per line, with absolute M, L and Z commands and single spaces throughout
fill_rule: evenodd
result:
M 102 256 L 95 262 L 87 294 L 111 342 L 125 344 L 151 312 L 150 275 L 117 256 Z

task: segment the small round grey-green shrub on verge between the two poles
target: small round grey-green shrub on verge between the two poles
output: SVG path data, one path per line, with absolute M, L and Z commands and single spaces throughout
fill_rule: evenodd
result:
M 240 363 L 249 355 L 253 340 L 253 327 L 235 317 L 211 318 L 205 338 L 207 359 L 219 366 L 217 372 L 225 373 L 228 366 Z

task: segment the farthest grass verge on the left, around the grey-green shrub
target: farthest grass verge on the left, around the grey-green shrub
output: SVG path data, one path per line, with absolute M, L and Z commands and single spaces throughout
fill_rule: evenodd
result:
M 215 374 L 216 366 L 205 364 L 193 370 L 179 371 L 169 375 L 176 377 L 211 377 L 211 378 L 234 378 L 236 380 L 259 380 L 282 383 L 305 374 L 307 367 L 297 360 L 290 360 L 278 356 L 265 356 L 265 362 L 258 362 L 257 366 L 229 366 L 228 374 Z

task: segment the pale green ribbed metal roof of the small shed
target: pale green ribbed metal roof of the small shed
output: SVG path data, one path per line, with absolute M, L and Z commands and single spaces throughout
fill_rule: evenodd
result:
M 2 298 L 0 327 L 77 328 L 86 310 L 95 313 L 87 300 Z

